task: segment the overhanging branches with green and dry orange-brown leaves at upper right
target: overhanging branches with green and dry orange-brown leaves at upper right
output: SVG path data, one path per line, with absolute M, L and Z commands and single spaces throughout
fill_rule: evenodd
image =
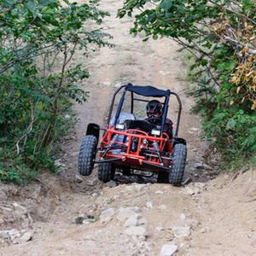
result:
M 132 33 L 146 32 L 144 40 L 172 38 L 190 50 L 218 90 L 230 86 L 230 104 L 247 99 L 250 108 L 256 107 L 254 1 L 127 0 L 119 18 L 131 16 L 134 9 L 140 13 L 135 15 Z

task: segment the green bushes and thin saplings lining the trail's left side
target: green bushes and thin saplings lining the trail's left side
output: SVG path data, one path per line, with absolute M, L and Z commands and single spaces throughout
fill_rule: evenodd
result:
M 65 2 L 65 3 L 64 3 Z M 110 44 L 108 34 L 86 28 L 108 13 L 97 1 L 0 1 L 0 180 L 24 183 L 39 168 L 55 171 L 56 142 L 73 125 L 70 99 L 84 102 L 79 87 L 89 77 L 77 50 Z M 89 49 L 90 44 L 90 49 Z

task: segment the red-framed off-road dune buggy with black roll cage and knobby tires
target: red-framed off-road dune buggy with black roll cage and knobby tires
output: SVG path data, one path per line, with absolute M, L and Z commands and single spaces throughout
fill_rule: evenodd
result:
M 120 99 L 115 105 L 117 95 Z M 164 125 L 172 95 L 176 96 L 179 108 L 176 130 L 170 136 L 164 132 Z M 152 97 L 162 101 L 163 117 L 158 120 L 158 125 L 134 113 L 136 102 L 146 104 Z M 125 105 L 127 98 L 128 105 Z M 113 108 L 117 108 L 114 114 Z M 145 113 L 144 109 L 140 111 Z M 116 170 L 119 170 L 124 175 L 139 172 L 148 176 L 157 173 L 159 183 L 181 184 L 187 155 L 186 141 L 177 137 L 181 109 L 179 96 L 170 90 L 132 84 L 120 86 L 113 94 L 106 127 L 100 128 L 94 123 L 87 126 L 79 152 L 79 173 L 89 176 L 95 163 L 98 163 L 98 178 L 104 183 L 113 179 Z M 97 147 L 100 130 L 103 130 L 103 135 Z

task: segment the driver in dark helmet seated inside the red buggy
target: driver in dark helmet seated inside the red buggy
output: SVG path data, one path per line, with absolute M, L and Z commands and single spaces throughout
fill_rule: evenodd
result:
M 157 100 L 150 101 L 147 104 L 146 110 L 147 110 L 148 119 L 145 119 L 145 121 L 149 123 L 153 123 L 154 125 L 160 125 L 163 119 L 162 104 Z M 166 119 L 164 132 L 166 132 L 170 138 L 172 138 L 172 125 L 173 125 L 172 120 Z

